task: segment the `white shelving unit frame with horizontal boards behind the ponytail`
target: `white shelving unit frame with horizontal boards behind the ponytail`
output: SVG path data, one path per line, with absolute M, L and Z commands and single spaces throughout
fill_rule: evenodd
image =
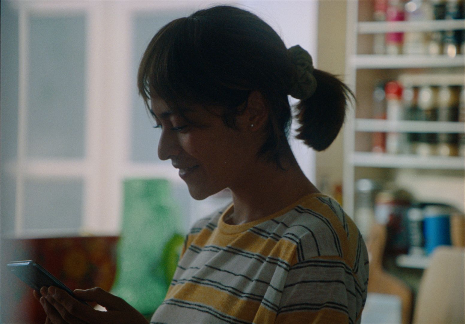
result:
M 389 178 L 396 182 L 396 175 L 404 169 L 422 170 L 438 177 L 454 175 L 465 181 L 465 158 L 462 156 L 419 156 L 414 154 L 392 155 L 372 153 L 367 147 L 371 142 L 363 141 L 373 132 L 399 133 L 465 133 L 464 122 L 436 121 L 386 121 L 370 119 L 372 111 L 372 90 L 379 80 L 404 80 L 405 75 L 412 83 L 425 81 L 431 85 L 465 84 L 465 54 L 448 55 L 376 55 L 370 53 L 374 34 L 389 32 L 434 32 L 465 29 L 465 20 L 427 20 L 379 22 L 361 21 L 372 17 L 372 5 L 368 1 L 347 1 L 346 65 L 345 82 L 357 97 L 358 106 L 348 110 L 344 128 L 344 209 L 355 216 L 355 183 L 359 178 Z M 363 54 L 362 54 L 363 53 Z M 442 73 L 453 74 L 445 80 Z M 421 75 L 418 80 L 416 75 Z M 365 137 L 363 137 L 365 136 Z M 361 140 L 362 139 L 362 140 Z M 463 182 L 462 182 L 463 183 Z M 432 192 L 434 184 L 432 183 Z M 415 192 L 412 192 L 415 196 Z M 463 200 L 463 195 L 462 198 Z M 440 198 L 438 197 L 438 200 Z M 404 267 L 427 265 L 411 262 L 405 256 L 400 260 Z M 418 260 L 417 260 L 418 261 Z M 415 264 L 414 264 L 415 263 Z M 419 264 L 421 266 L 419 266 Z

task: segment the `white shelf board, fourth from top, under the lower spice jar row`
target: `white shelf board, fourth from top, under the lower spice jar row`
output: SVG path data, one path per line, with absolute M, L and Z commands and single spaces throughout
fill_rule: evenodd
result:
M 351 159 L 356 167 L 412 168 L 412 169 L 465 169 L 465 158 L 461 156 L 420 156 L 413 154 L 386 154 L 354 152 Z

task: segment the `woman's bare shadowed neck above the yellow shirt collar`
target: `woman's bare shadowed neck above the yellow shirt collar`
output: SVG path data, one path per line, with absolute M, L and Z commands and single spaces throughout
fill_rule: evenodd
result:
M 292 156 L 293 158 L 293 156 Z M 272 215 L 303 196 L 319 193 L 293 159 L 286 170 L 257 162 L 231 187 L 234 210 L 226 223 L 239 225 Z

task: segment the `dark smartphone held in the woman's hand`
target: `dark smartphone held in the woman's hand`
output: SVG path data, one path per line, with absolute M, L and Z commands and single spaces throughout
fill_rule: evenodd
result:
M 68 294 L 76 298 L 82 304 L 90 306 L 85 301 L 80 300 L 79 298 L 74 296 L 73 291 L 71 289 L 66 287 L 64 283 L 62 283 L 57 278 L 53 277 L 53 275 L 50 272 L 48 272 L 32 260 L 8 262 L 7 267 L 16 275 L 16 277 L 20 278 L 24 283 L 27 283 L 27 285 L 34 290 L 40 292 L 40 288 L 44 286 L 55 286 L 57 288 L 65 290 Z

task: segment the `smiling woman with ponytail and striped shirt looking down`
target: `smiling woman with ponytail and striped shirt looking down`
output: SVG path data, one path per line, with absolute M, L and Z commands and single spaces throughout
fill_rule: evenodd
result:
M 160 128 L 158 155 L 194 199 L 229 188 L 233 203 L 198 221 L 151 323 L 359 323 L 368 256 L 357 227 L 296 162 L 287 137 L 323 150 L 350 90 L 245 10 L 219 6 L 173 20 L 143 55 L 138 86 Z M 47 321 L 144 323 L 97 288 L 40 298 Z M 63 320 L 63 318 L 66 320 Z M 107 321 L 107 322 L 105 322 Z

